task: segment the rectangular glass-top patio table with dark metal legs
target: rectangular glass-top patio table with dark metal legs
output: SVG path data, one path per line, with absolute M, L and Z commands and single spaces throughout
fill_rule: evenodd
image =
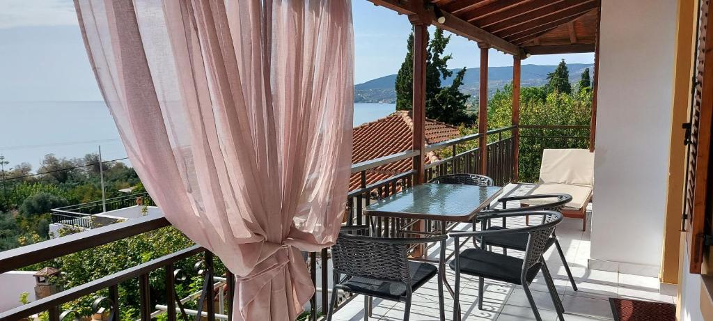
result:
M 481 210 L 488 208 L 488 205 L 493 203 L 501 193 L 503 188 L 500 186 L 421 184 L 367 206 L 364 208 L 364 215 L 369 218 L 411 220 L 411 223 L 403 225 L 399 231 L 406 235 L 446 234 L 453 230 L 457 223 L 472 222 L 473 218 L 476 218 Z M 434 230 L 411 228 L 419 221 L 438 224 Z M 463 240 L 463 242 L 467 241 L 467 239 Z M 425 249 L 421 252 L 421 258 L 414 258 L 438 263 L 438 272 L 443 276 L 443 284 L 446 285 L 451 296 L 453 296 L 453 288 L 446 279 L 445 267 L 446 260 L 454 254 L 451 253 L 446 257 L 446 250 L 441 246 L 438 260 L 429 260 Z

